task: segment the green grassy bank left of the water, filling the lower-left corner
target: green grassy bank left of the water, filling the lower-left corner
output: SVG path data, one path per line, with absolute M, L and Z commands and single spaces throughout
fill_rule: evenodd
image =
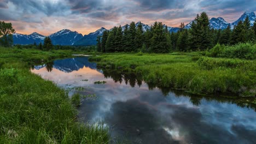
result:
M 67 93 L 30 72 L 72 51 L 0 47 L 0 143 L 108 143 L 108 131 L 77 122 Z

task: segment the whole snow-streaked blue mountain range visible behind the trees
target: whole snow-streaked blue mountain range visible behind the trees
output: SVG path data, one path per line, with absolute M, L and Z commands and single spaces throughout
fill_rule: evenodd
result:
M 239 21 L 245 21 L 247 16 L 249 17 L 251 26 L 253 26 L 253 23 L 256 19 L 254 12 L 243 13 L 238 20 L 236 20 L 232 23 L 226 22 L 222 17 L 217 17 L 217 18 L 212 17 L 210 19 L 210 26 L 213 29 L 225 29 L 230 25 L 231 29 L 233 29 L 234 26 L 236 26 Z M 192 22 L 193 21 L 189 22 L 185 26 L 185 28 L 190 28 Z M 150 29 L 150 26 L 145 25 L 143 23 L 141 23 L 141 24 L 142 24 L 143 31 L 147 31 L 147 29 Z M 136 27 L 138 25 L 139 25 L 139 22 L 136 23 Z M 125 29 L 125 26 L 122 26 L 123 31 Z M 127 26 L 129 27 L 129 25 L 127 25 Z M 164 25 L 164 27 L 165 27 L 165 25 Z M 167 27 L 167 28 L 170 33 L 178 32 L 178 30 L 179 30 L 178 27 Z M 82 34 L 80 34 L 78 32 L 73 32 L 73 31 L 70 31 L 69 29 L 62 29 L 59 32 L 49 35 L 49 37 L 52 40 L 54 45 L 88 46 L 88 45 L 96 45 L 97 36 L 98 35 L 102 36 L 104 31 L 111 31 L 111 30 L 112 30 L 112 28 L 108 30 L 108 29 L 102 27 L 93 33 L 89 33 L 89 34 L 83 36 Z M 33 44 L 33 43 L 39 44 L 39 43 L 43 43 L 44 38 L 45 38 L 44 35 L 38 34 L 36 32 L 29 34 L 29 35 L 19 34 L 19 33 L 13 34 L 14 44 L 22 44 L 22 45 Z

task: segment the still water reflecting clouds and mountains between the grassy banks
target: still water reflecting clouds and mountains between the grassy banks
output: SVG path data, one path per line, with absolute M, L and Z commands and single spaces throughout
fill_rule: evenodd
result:
M 83 99 L 78 108 L 79 119 L 91 124 L 104 123 L 113 140 L 256 143 L 255 108 L 238 106 L 229 99 L 154 88 L 135 74 L 97 69 L 88 57 L 56 60 L 34 66 L 31 71 L 69 89 L 69 95 L 94 95 Z M 106 83 L 94 84 L 96 81 Z

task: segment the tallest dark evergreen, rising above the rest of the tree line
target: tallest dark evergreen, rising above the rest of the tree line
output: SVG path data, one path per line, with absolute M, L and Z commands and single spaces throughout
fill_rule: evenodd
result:
M 202 12 L 197 14 L 191 24 L 191 49 L 206 50 L 211 47 L 210 22 L 208 15 Z

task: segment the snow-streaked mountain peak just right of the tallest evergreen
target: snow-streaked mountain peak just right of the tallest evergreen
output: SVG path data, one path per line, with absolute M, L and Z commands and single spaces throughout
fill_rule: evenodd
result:
M 226 29 L 230 23 L 226 22 L 222 17 L 212 17 L 210 20 L 210 27 L 213 29 Z

